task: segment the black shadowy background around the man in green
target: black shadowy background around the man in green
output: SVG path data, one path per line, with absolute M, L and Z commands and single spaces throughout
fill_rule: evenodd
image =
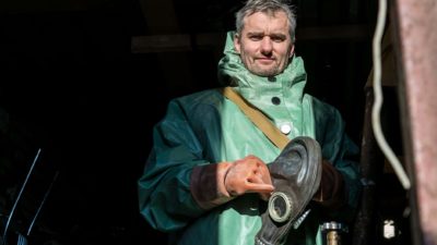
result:
M 137 201 L 152 126 L 170 98 L 218 85 L 223 44 L 133 53 L 131 40 L 202 33 L 224 40 L 241 5 L 231 0 L 166 2 L 173 14 L 149 0 L 1 4 L 0 228 L 42 149 L 12 219 L 10 240 L 27 229 L 59 174 L 28 236 L 33 244 L 164 243 L 165 235 L 140 217 Z M 321 37 L 303 32 L 296 44 L 308 72 L 307 91 L 339 108 L 359 145 L 376 3 L 294 3 L 298 29 L 352 25 L 365 30 L 351 36 L 352 27 Z M 154 17 L 147 17 L 150 12 Z M 168 27 L 175 23 L 177 27 Z

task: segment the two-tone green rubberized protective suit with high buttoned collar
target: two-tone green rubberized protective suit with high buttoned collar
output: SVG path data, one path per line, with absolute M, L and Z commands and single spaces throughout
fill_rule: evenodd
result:
M 358 148 L 345 135 L 336 109 L 304 94 L 306 72 L 303 60 L 293 59 L 275 77 L 260 77 L 247 71 L 228 33 L 225 56 L 218 63 L 221 79 L 232 79 L 235 89 L 281 126 L 287 123 L 290 138 L 316 138 L 323 158 L 343 174 L 349 206 L 326 217 L 314 209 L 287 244 L 320 244 L 318 228 L 332 219 L 349 221 L 359 196 L 359 172 L 354 161 Z M 272 98 L 280 99 L 279 105 Z M 276 103 L 277 103 L 277 99 Z M 139 205 L 150 225 L 168 232 L 172 244 L 252 245 L 262 225 L 259 196 L 246 194 L 212 210 L 202 210 L 190 194 L 190 174 L 199 164 L 235 161 L 255 155 L 272 162 L 280 150 L 253 125 L 240 109 L 218 89 L 172 100 L 165 118 L 155 125 L 154 146 L 140 177 Z

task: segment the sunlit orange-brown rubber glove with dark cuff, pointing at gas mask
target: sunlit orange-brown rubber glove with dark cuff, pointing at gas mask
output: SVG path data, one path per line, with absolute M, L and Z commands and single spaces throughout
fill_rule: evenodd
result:
M 268 200 L 273 189 L 269 169 L 255 156 L 233 163 L 194 167 L 190 180 L 191 195 L 203 209 L 214 208 L 245 193 L 259 193 Z

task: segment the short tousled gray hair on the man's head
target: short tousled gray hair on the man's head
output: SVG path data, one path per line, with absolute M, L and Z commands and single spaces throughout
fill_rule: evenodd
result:
M 290 24 L 290 36 L 292 41 L 295 41 L 296 30 L 296 14 L 292 5 L 284 0 L 247 0 L 246 4 L 235 14 L 236 17 L 236 32 L 241 35 L 243 27 L 245 25 L 244 19 L 253 13 L 262 12 L 269 15 L 273 15 L 276 12 L 283 11 Z

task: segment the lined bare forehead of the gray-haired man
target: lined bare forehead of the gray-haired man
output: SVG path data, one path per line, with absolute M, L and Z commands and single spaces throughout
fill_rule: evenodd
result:
M 255 12 L 244 19 L 243 33 L 282 33 L 288 34 L 290 24 L 283 11 Z

